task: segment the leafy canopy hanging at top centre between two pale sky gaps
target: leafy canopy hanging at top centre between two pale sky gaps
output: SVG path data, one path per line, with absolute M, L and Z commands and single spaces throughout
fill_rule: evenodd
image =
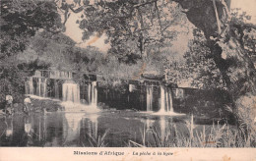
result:
M 108 51 L 126 62 L 147 57 L 151 46 L 169 45 L 176 31 L 169 29 L 184 18 L 168 1 L 95 1 L 84 5 L 80 27 L 84 39 L 107 35 Z M 179 21 L 177 21 L 179 20 Z

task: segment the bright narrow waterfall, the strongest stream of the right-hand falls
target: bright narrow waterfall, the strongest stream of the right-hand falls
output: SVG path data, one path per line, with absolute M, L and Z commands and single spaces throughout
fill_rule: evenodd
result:
M 160 86 L 160 113 L 172 113 L 172 94 L 171 89 L 165 86 Z

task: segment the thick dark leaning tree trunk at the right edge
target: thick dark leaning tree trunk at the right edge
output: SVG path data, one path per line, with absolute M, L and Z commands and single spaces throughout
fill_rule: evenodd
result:
M 204 31 L 211 55 L 222 73 L 232 98 L 232 108 L 240 108 L 237 106 L 242 106 L 241 102 L 237 103 L 237 101 L 246 98 L 253 103 L 244 108 L 254 110 L 253 117 L 255 117 L 256 71 L 252 60 L 239 41 L 242 33 L 237 33 L 230 21 L 226 24 L 227 15 L 224 9 L 229 9 L 230 0 L 216 0 L 216 4 L 211 0 L 173 1 L 186 10 L 185 14 L 193 25 Z M 224 31 L 223 37 L 220 31 Z

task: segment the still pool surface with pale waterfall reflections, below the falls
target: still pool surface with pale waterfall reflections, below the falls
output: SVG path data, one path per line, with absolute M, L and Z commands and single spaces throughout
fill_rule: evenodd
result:
M 184 119 L 184 118 L 183 118 Z M 47 113 L 1 119 L 1 146 L 126 146 L 129 140 L 154 145 L 153 130 L 160 141 L 181 130 L 182 119 L 136 112 Z M 104 139 L 102 136 L 108 132 Z M 101 141 L 101 143 L 100 143 Z

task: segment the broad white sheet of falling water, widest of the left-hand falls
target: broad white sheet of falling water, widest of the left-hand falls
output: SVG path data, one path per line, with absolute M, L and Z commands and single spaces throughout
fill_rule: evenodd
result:
M 77 83 L 64 82 L 62 84 L 63 101 L 80 102 L 80 88 Z

